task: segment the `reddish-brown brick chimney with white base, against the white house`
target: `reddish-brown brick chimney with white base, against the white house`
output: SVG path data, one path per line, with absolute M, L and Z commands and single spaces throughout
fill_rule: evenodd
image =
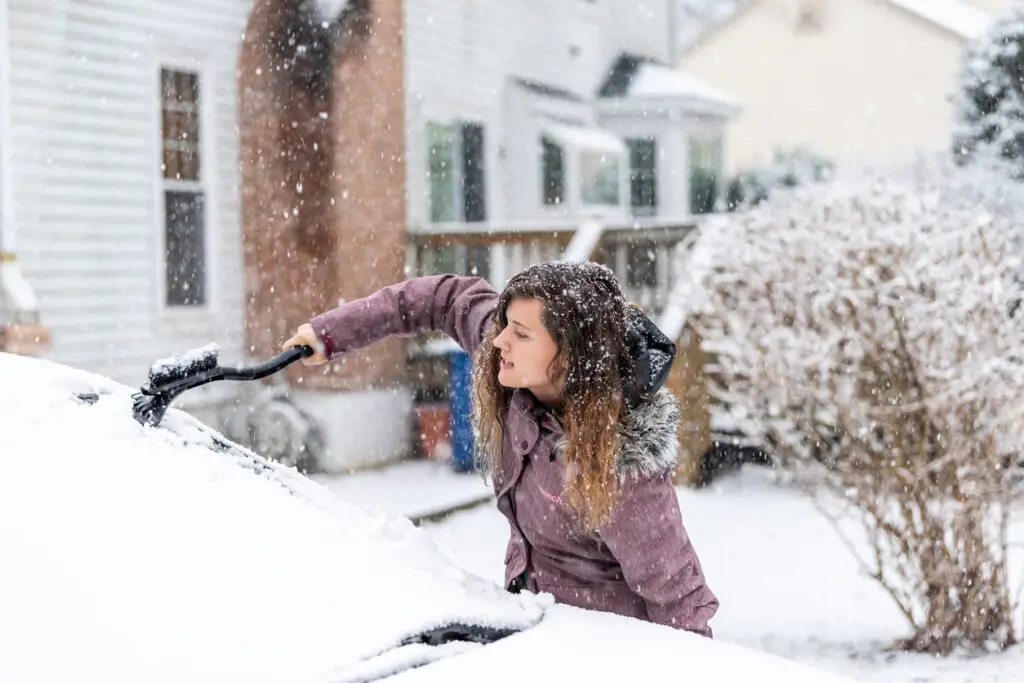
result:
M 402 0 L 349 0 L 327 23 L 311 5 L 257 0 L 239 58 L 246 343 L 257 357 L 340 300 L 406 276 Z M 408 452 L 411 396 L 380 391 L 404 372 L 406 342 L 393 339 L 286 376 L 348 469 Z M 366 421 L 383 415 L 393 428 L 371 439 Z

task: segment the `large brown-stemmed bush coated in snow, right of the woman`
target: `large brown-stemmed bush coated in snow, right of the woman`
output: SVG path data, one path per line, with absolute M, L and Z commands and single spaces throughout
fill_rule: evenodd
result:
M 993 186 L 1024 191 L 950 162 L 800 187 L 711 220 L 682 264 L 713 391 L 823 509 L 863 523 L 860 559 L 912 649 L 1016 641 L 1021 216 L 979 203 Z

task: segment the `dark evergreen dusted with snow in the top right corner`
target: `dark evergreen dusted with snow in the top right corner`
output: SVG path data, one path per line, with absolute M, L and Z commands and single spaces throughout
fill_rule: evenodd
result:
M 965 49 L 954 97 L 953 154 L 995 157 L 1024 178 L 1024 2 L 1014 0 Z

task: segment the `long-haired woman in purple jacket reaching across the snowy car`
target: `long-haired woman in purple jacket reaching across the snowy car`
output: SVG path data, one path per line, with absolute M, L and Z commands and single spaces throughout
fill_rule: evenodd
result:
M 675 347 L 612 272 L 546 263 L 501 294 L 416 278 L 317 315 L 284 348 L 309 344 L 318 365 L 428 330 L 474 355 L 477 451 L 511 530 L 506 588 L 711 637 L 718 600 L 671 480 L 680 414 L 660 385 Z

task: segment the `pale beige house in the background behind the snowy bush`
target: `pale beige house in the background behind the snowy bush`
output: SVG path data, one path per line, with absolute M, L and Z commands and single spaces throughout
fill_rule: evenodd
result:
M 841 171 L 948 148 L 965 44 L 1008 0 L 749 0 L 680 69 L 740 100 L 724 168 L 806 146 Z

